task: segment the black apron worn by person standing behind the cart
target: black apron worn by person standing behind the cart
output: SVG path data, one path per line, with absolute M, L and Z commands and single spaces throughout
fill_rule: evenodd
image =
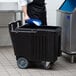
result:
M 47 25 L 45 0 L 33 0 L 27 5 L 27 13 L 30 18 L 40 19 L 42 25 Z

